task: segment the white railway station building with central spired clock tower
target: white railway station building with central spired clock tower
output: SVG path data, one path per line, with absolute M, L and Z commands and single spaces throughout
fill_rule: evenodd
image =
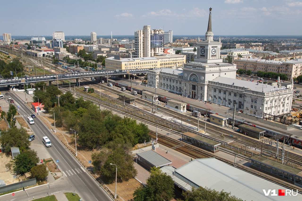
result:
M 211 9 L 205 40 L 198 41 L 197 58 L 183 68 L 154 69 L 147 72 L 148 86 L 210 101 L 259 118 L 290 114 L 293 80 L 272 85 L 258 80 L 236 79 L 236 64 L 220 58 L 222 43 L 213 40 Z

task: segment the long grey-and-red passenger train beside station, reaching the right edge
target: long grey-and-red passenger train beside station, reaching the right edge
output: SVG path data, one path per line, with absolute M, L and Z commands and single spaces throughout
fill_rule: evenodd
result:
M 226 115 L 218 114 L 216 111 L 213 111 L 213 110 L 207 111 L 206 109 L 198 108 L 198 107 L 190 105 L 190 104 L 187 104 L 187 110 L 191 111 L 191 112 L 199 111 L 201 113 L 201 115 L 204 115 L 204 114 L 207 113 L 207 115 L 217 114 L 217 115 L 226 117 Z M 228 118 L 229 118 L 229 124 L 232 124 L 233 118 L 230 117 L 230 116 L 228 116 Z M 275 131 L 275 130 L 270 130 L 268 128 L 264 128 L 264 127 L 258 126 L 256 124 L 252 124 L 251 122 L 246 121 L 245 119 L 235 118 L 234 126 L 238 127 L 240 124 L 246 124 L 246 125 L 249 125 L 249 126 L 252 126 L 252 127 L 256 127 L 256 128 L 265 130 L 264 135 L 267 136 L 267 137 L 278 136 L 279 140 L 282 140 L 282 141 L 285 140 L 286 143 L 290 143 L 293 146 L 302 148 L 302 137 L 300 137 L 300 136 L 286 134 L 286 133 L 285 134 L 284 133 L 280 133 L 280 132 Z

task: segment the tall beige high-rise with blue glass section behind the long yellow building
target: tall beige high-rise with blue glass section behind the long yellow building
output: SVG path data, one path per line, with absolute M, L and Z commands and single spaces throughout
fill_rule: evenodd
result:
M 153 29 L 149 25 L 143 30 L 134 32 L 134 57 L 152 57 L 157 53 L 163 53 L 164 31 Z

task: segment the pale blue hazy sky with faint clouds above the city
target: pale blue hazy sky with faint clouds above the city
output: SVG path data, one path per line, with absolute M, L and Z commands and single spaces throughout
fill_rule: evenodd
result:
M 134 35 L 144 25 L 204 36 L 210 7 L 214 35 L 302 35 L 302 0 L 10 0 L 1 7 L 0 33 L 12 37 Z

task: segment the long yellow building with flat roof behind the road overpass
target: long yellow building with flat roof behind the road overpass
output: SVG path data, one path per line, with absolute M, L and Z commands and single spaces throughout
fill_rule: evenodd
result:
M 105 67 L 107 71 L 172 68 L 176 66 L 182 67 L 185 61 L 185 55 L 165 55 L 140 58 L 120 58 L 119 55 L 116 55 L 105 59 Z

